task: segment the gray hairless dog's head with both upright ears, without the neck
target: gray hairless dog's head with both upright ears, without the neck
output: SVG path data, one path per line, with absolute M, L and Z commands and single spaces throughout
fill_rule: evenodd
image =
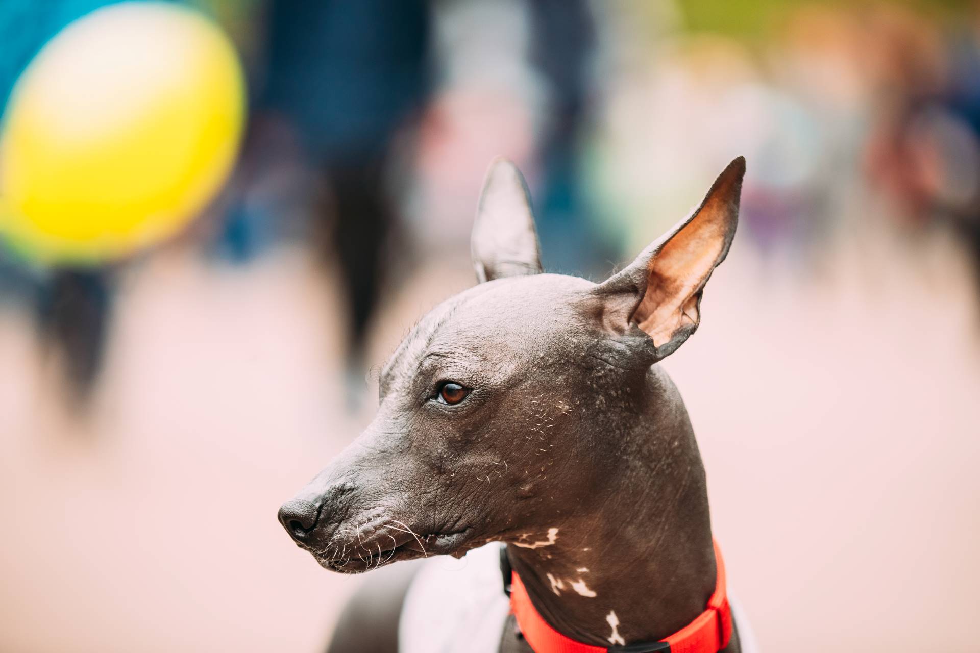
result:
M 698 209 L 594 284 L 542 273 L 523 179 L 495 162 L 473 228 L 480 283 L 387 361 L 368 429 L 279 510 L 289 535 L 323 567 L 362 572 L 492 540 L 535 547 L 600 519 L 620 434 L 679 404 L 648 372 L 698 328 L 744 173 L 730 163 Z

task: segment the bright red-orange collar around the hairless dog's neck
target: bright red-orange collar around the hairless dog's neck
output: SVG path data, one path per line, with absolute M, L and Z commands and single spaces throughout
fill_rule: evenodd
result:
M 659 642 L 648 644 L 630 644 L 629 646 L 613 646 L 604 648 L 583 644 L 564 636 L 553 629 L 542 619 L 541 615 L 531 604 L 527 589 L 516 572 L 512 572 L 511 612 L 517 620 L 517 626 L 524 639 L 534 649 L 535 653 L 717 653 L 728 645 L 732 634 L 732 613 L 728 606 L 728 595 L 725 592 L 725 566 L 721 559 L 721 550 L 714 542 L 715 566 L 718 579 L 714 584 L 714 593 L 708 599 L 708 609 L 698 615 L 693 622 L 681 630 Z

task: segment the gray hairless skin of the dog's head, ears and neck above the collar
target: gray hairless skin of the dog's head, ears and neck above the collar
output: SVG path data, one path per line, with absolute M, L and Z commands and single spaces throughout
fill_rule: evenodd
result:
M 368 429 L 283 504 L 286 531 L 342 573 L 502 541 L 538 612 L 573 639 L 618 643 L 611 612 L 627 644 L 686 626 L 714 589 L 711 520 L 687 411 L 657 362 L 700 323 L 744 173 L 730 163 L 697 210 L 594 284 L 541 273 L 523 179 L 495 162 L 473 232 L 481 283 L 417 323 Z M 448 402 L 446 383 L 465 398 Z M 348 635 L 335 650 L 359 650 Z M 507 634 L 503 646 L 530 650 Z M 724 650 L 740 650 L 737 633 Z

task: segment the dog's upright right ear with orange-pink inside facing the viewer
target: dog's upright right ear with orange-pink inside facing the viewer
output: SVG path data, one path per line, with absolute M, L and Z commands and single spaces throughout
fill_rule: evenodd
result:
M 636 324 L 653 340 L 658 360 L 695 332 L 705 284 L 735 236 L 744 176 L 745 159 L 739 157 L 718 175 L 700 207 L 596 289 L 608 327 L 622 332 Z

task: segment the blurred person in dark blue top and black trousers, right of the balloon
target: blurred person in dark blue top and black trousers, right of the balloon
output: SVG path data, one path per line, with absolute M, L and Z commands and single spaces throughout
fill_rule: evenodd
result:
M 311 197 L 315 242 L 322 256 L 339 263 L 349 356 L 363 374 L 368 319 L 398 213 L 386 173 L 396 136 L 410 128 L 430 84 L 429 10 L 422 0 L 355 6 L 287 0 L 264 9 L 254 128 L 285 120 L 319 181 L 319 197 Z M 261 162 L 269 141 L 253 143 L 251 154 Z M 271 210 L 266 218 L 274 220 Z M 225 242 L 238 256 L 254 240 L 242 233 L 248 219 L 239 212 L 225 227 Z

